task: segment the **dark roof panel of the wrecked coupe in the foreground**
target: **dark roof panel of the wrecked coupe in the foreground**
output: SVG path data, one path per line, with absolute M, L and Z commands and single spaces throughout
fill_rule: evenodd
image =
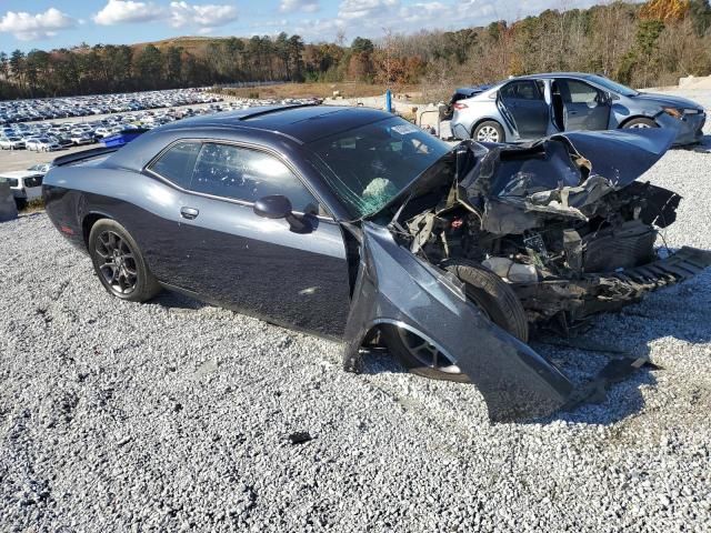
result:
M 166 132 L 186 128 L 233 128 L 240 130 L 248 128 L 282 133 L 302 143 L 308 143 L 392 117 L 384 111 L 361 107 L 261 105 L 183 119 L 163 125 L 161 130 Z

